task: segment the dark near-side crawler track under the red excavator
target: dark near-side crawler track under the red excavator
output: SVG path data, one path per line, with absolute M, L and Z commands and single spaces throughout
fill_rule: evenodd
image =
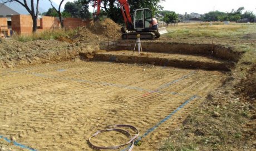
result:
M 137 39 L 137 34 L 140 34 L 140 39 L 155 39 L 158 38 L 154 32 L 131 32 L 123 33 L 122 39 Z

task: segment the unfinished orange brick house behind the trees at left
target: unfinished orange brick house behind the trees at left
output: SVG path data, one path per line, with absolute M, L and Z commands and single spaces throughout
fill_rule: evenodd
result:
M 8 37 L 12 34 L 32 34 L 33 21 L 30 15 L 18 14 L 11 8 L 0 3 L 0 32 L 1 36 Z M 3 9 L 2 9 L 3 8 Z M 76 28 L 86 25 L 81 18 L 64 18 L 65 28 Z M 38 16 L 37 32 L 54 30 L 61 27 L 60 20 L 56 17 Z

